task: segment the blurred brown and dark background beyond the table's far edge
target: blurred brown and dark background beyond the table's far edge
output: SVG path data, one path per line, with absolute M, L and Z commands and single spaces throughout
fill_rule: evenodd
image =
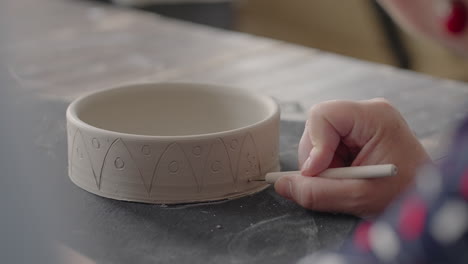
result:
M 375 0 L 96 1 L 468 81 L 466 58 L 401 31 Z

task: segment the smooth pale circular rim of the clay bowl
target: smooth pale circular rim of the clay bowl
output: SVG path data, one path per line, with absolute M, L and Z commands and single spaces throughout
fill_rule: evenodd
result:
M 98 95 L 103 95 L 108 92 L 112 92 L 115 90 L 125 90 L 125 89 L 131 89 L 135 87 L 144 87 L 144 86 L 152 86 L 152 85 L 158 85 L 158 86 L 164 86 L 164 85 L 173 85 L 173 86 L 192 86 L 194 89 L 196 88 L 202 88 L 206 90 L 223 90 L 227 91 L 228 93 L 233 93 L 233 94 L 239 94 L 239 95 L 245 95 L 249 96 L 255 99 L 258 99 L 259 101 L 262 101 L 262 103 L 271 109 L 271 113 L 266 115 L 265 118 L 255 122 L 251 123 L 246 126 L 242 126 L 239 128 L 235 129 L 230 129 L 230 130 L 224 130 L 224 131 L 219 131 L 219 132 L 212 132 L 212 133 L 205 133 L 205 134 L 193 134 L 193 135 L 178 135 L 178 136 L 170 136 L 170 135 L 143 135 L 143 134 L 131 134 L 131 133 L 124 133 L 124 132 L 118 132 L 118 131 L 113 131 L 113 130 L 108 130 L 104 128 L 99 128 L 95 127 L 93 125 L 90 125 L 80 119 L 77 114 L 77 108 L 80 106 L 80 104 L 83 103 L 88 98 L 98 96 Z M 83 128 L 85 130 L 92 130 L 93 132 L 98 132 L 101 134 L 105 134 L 107 136 L 114 136 L 117 138 L 127 138 L 127 139 L 135 139 L 135 140 L 193 140 L 193 139 L 208 139 L 208 138 L 214 138 L 214 137 L 223 137 L 223 136 L 228 136 L 232 134 L 238 134 L 241 132 L 244 132 L 245 130 L 251 130 L 254 128 L 257 128 L 259 126 L 262 126 L 263 124 L 269 123 L 271 120 L 279 119 L 280 116 L 280 107 L 278 103 L 270 96 L 260 94 L 258 92 L 252 92 L 252 91 L 247 91 L 243 89 L 242 87 L 233 87 L 233 86 L 227 86 L 227 85 L 219 85 L 219 84 L 213 84 L 213 83 L 203 83 L 203 82 L 136 82 L 136 83 L 128 83 L 128 84 L 123 84 L 123 85 L 118 85 L 112 88 L 107 88 L 107 89 L 102 89 L 99 91 L 94 91 L 87 93 L 85 95 L 82 95 L 75 99 L 72 103 L 67 108 L 66 111 L 66 118 L 68 122 L 73 123 L 76 125 L 78 128 Z

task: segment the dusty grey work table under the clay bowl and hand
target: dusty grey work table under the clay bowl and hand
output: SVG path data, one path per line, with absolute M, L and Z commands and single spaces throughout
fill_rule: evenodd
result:
M 305 210 L 271 187 L 178 206 L 85 192 L 67 175 L 65 109 L 86 92 L 183 80 L 268 94 L 283 111 L 283 170 L 297 169 L 305 112 L 320 101 L 387 98 L 435 160 L 444 157 L 445 138 L 467 113 L 468 86 L 460 82 L 92 1 L 6 0 L 1 6 L 5 263 L 291 263 L 340 247 L 358 221 Z

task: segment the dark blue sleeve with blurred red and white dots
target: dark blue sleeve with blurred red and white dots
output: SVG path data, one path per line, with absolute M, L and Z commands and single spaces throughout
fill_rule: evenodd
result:
M 414 185 L 385 213 L 360 223 L 338 252 L 300 263 L 468 263 L 468 120 L 447 161 L 421 168 Z

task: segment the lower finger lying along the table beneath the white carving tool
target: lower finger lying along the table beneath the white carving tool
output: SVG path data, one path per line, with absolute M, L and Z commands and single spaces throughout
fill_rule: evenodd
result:
M 359 216 L 382 211 L 391 197 L 375 193 L 379 179 L 329 179 L 288 175 L 275 183 L 280 195 L 316 211 L 343 212 Z M 376 197 L 371 197 L 371 196 Z

